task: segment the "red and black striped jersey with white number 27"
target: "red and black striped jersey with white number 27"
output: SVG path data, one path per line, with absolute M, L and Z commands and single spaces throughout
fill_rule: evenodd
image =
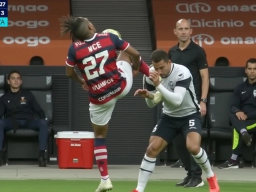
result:
M 66 64 L 78 66 L 89 87 L 89 101 L 104 104 L 115 98 L 126 86 L 116 66 L 116 50 L 124 51 L 130 44 L 115 34 L 97 34 L 88 40 L 70 45 Z

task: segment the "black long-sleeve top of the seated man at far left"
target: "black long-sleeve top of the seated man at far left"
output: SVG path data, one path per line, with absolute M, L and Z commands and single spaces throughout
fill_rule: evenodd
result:
M 20 90 L 15 93 L 8 91 L 0 97 L 0 117 L 6 114 L 6 118 L 29 120 L 34 119 L 34 113 L 39 118 L 45 119 L 44 111 L 32 92 L 28 90 Z

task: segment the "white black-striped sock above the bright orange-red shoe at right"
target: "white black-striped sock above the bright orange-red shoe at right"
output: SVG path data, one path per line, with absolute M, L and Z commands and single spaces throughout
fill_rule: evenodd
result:
M 214 173 L 212 171 L 212 168 L 211 168 L 211 165 L 210 165 L 210 162 L 208 160 L 208 156 L 207 156 L 205 150 L 200 148 L 200 152 L 195 156 L 192 155 L 192 157 L 198 163 L 198 165 L 202 168 L 202 170 L 204 170 L 207 178 L 214 176 Z

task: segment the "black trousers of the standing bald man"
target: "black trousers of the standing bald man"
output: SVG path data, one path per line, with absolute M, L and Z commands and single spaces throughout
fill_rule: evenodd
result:
M 197 96 L 197 100 L 200 103 L 201 96 Z M 202 176 L 202 169 L 200 166 L 195 162 L 194 158 L 191 156 L 190 152 L 186 147 L 186 138 L 179 134 L 173 140 L 174 147 L 178 153 L 178 156 L 181 162 L 184 164 L 184 168 L 187 171 L 187 175 L 191 178 L 201 178 Z

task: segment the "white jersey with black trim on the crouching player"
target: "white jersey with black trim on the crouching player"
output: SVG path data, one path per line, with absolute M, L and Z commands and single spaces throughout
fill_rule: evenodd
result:
M 154 67 L 150 70 L 154 71 Z M 162 78 L 160 85 L 157 87 L 147 77 L 146 89 L 152 93 L 158 90 L 162 94 L 163 113 L 168 116 L 183 117 L 200 112 L 192 74 L 183 65 L 172 63 L 170 74 L 166 78 Z M 156 105 L 150 99 L 146 99 L 146 102 L 150 108 Z

